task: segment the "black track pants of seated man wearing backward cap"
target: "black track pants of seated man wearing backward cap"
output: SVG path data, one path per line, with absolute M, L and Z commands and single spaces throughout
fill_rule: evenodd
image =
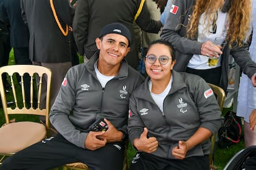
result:
M 103 148 L 90 151 L 57 134 L 8 157 L 2 163 L 2 170 L 51 169 L 73 162 L 86 163 L 91 170 L 123 169 L 124 143 L 107 143 Z

